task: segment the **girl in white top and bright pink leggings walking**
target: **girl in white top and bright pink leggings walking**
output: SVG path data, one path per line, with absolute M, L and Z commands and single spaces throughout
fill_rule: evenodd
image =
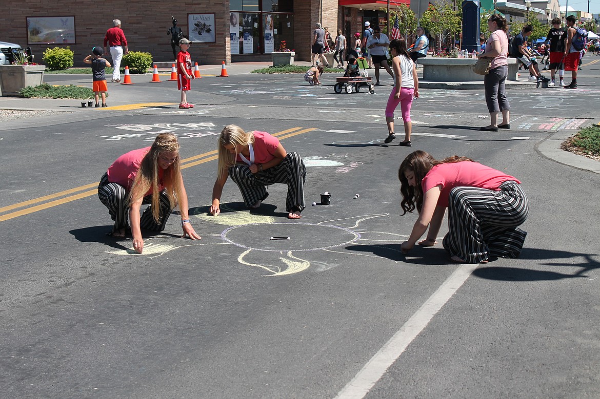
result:
M 415 63 L 410 59 L 406 50 L 406 41 L 403 38 L 394 39 L 389 44 L 389 52 L 392 55 L 392 67 L 394 68 L 394 89 L 389 94 L 388 105 L 385 107 L 385 121 L 388 123 L 388 137 L 384 140 L 391 143 L 394 134 L 394 110 L 400 104 L 402 119 L 404 120 L 404 141 L 400 146 L 411 147 L 410 133 L 412 123 L 410 122 L 410 106 L 413 98 L 419 98 L 419 78 L 416 75 Z

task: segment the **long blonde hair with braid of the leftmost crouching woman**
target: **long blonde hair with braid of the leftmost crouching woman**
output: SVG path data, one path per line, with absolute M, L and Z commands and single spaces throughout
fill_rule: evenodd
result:
M 131 191 L 127 201 L 129 204 L 139 201 L 143 198 L 146 193 L 152 189 L 152 217 L 158 223 L 160 221 L 160 180 L 158 179 L 158 157 L 164 152 L 177 152 L 175 161 L 169 165 L 169 167 L 163 171 L 163 185 L 166 189 L 167 196 L 171 208 L 175 208 L 178 203 L 178 198 L 182 197 L 182 185 L 181 185 L 181 169 L 179 168 L 179 143 L 177 137 L 170 133 L 159 134 L 150 150 L 142 159 L 140 168 L 137 171 L 136 178 L 131 184 Z

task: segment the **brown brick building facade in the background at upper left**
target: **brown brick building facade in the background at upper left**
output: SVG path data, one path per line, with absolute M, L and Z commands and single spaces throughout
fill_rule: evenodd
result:
M 248 10 L 247 5 L 256 4 Z M 266 4 L 272 7 L 266 10 Z M 276 4 L 280 4 L 280 8 Z M 236 8 L 242 7 L 241 10 Z M 263 7 L 265 8 L 263 10 Z M 194 61 L 199 64 L 226 64 L 236 61 L 268 61 L 271 59 L 271 50 L 266 46 L 263 32 L 269 26 L 266 19 L 272 14 L 277 23 L 274 26 L 274 49 L 277 50 L 280 40 L 278 34 L 287 29 L 288 48 L 296 51 L 296 60 L 310 61 L 310 48 L 313 42 L 314 26 L 321 22 L 329 27 L 329 32 L 335 37 L 337 29 L 342 29 L 346 37 L 355 32 L 362 32 L 362 22 L 365 16 L 358 8 L 342 7 L 338 0 L 254 0 L 244 2 L 240 0 L 194 0 L 165 2 L 158 0 L 112 0 L 98 2 L 80 0 L 78 2 L 65 0 L 22 0 L 21 2 L 8 2 L 2 6 L 0 16 L 0 41 L 20 44 L 23 48 L 31 47 L 36 55 L 35 61 L 41 61 L 44 50 L 53 47 L 69 46 L 74 51 L 75 65 L 83 66 L 83 58 L 91 53 L 94 46 L 102 46 L 104 34 L 112 27 L 113 19 L 120 19 L 122 29 L 127 37 L 130 51 L 141 51 L 152 54 L 155 62 L 171 61 L 172 49 L 168 29 L 172 26 L 171 16 L 178 20 L 178 26 L 185 35 L 188 35 L 190 14 L 214 14 L 214 43 L 194 43 L 190 53 Z M 277 11 L 273 11 L 273 8 Z M 284 10 L 280 13 L 279 10 Z M 249 35 L 254 32 L 254 49 L 245 48 L 243 45 L 242 29 L 239 28 L 239 54 L 236 50 L 232 54 L 230 26 L 230 12 L 238 12 L 239 17 L 252 14 L 254 20 L 248 28 Z M 244 13 L 244 14 L 242 14 Z M 374 13 L 374 11 L 372 11 Z M 37 23 L 46 28 L 36 28 L 32 35 L 31 28 Z M 44 23 L 48 22 L 47 25 Z M 68 26 L 70 24 L 73 26 Z M 54 24 L 54 25 L 53 25 Z M 59 26 L 59 25 L 64 26 Z M 53 25 L 51 28 L 48 26 Z M 64 29 L 59 29 L 64 28 Z M 280 28 L 280 31 L 277 30 Z M 44 31 L 44 29 L 50 29 Z M 64 31 L 64 33 L 61 33 Z M 71 32 L 67 32 L 71 31 Z M 46 35 L 46 36 L 43 36 Z M 61 36 L 62 35 L 62 36 Z M 48 41 L 55 43 L 41 43 L 49 37 Z M 64 37 L 61 39 L 61 37 Z M 283 37 L 283 36 L 282 36 Z M 193 38 L 190 38 L 191 40 Z M 34 42 L 39 43 L 32 43 Z M 56 43 L 61 42 L 61 43 Z M 263 45 L 264 43 L 264 45 Z M 242 53 L 248 50 L 247 53 Z

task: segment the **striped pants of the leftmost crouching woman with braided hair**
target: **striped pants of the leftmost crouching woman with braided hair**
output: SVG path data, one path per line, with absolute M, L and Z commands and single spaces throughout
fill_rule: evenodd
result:
M 100 179 L 98 185 L 98 198 L 109 210 L 110 217 L 115 221 L 113 230 L 127 228 L 127 220 L 129 217 L 129 205 L 127 204 L 127 189 L 118 183 L 110 183 L 106 173 Z M 161 191 L 159 198 L 160 220 L 157 223 L 152 217 L 152 207 L 149 206 L 142 213 L 140 218 L 140 227 L 151 231 L 163 231 L 164 226 L 171 215 L 173 208 L 169 201 L 169 196 L 166 190 Z M 152 197 L 144 197 L 142 204 L 151 204 Z

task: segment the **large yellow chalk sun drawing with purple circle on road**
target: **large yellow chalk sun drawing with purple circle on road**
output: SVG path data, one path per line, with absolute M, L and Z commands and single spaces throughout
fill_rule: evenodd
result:
M 396 243 L 406 240 L 407 235 L 393 232 L 364 231 L 362 225 L 377 217 L 389 216 L 389 213 L 364 214 L 325 220 L 319 223 L 276 222 L 269 215 L 256 214 L 250 210 L 239 210 L 230 204 L 221 204 L 221 214 L 212 216 L 207 212 L 208 206 L 190 209 L 190 218 L 202 223 L 196 226 L 227 226 L 218 232 L 201 232 L 201 241 L 186 241 L 189 244 L 178 245 L 172 237 L 146 238 L 142 255 L 133 248 L 106 251 L 112 255 L 148 256 L 157 258 L 172 250 L 182 247 L 207 245 L 233 245 L 241 252 L 237 261 L 241 265 L 260 268 L 263 277 L 287 276 L 307 270 L 311 264 L 320 265 L 320 270 L 327 270 L 323 265 L 320 250 L 347 255 L 374 256 L 345 250 L 349 245 L 370 245 L 373 243 Z M 207 223 L 209 222 L 209 223 Z M 360 229 L 360 230 L 359 230 Z M 274 235 L 289 236 L 291 240 L 269 240 Z M 169 243 L 166 240 L 169 239 Z M 181 241 L 177 241 L 180 243 Z M 375 245 L 377 246 L 377 245 Z M 399 247 L 398 247 L 399 248 Z M 386 248 L 386 250 L 394 250 Z M 399 250 L 399 249 L 398 249 Z

